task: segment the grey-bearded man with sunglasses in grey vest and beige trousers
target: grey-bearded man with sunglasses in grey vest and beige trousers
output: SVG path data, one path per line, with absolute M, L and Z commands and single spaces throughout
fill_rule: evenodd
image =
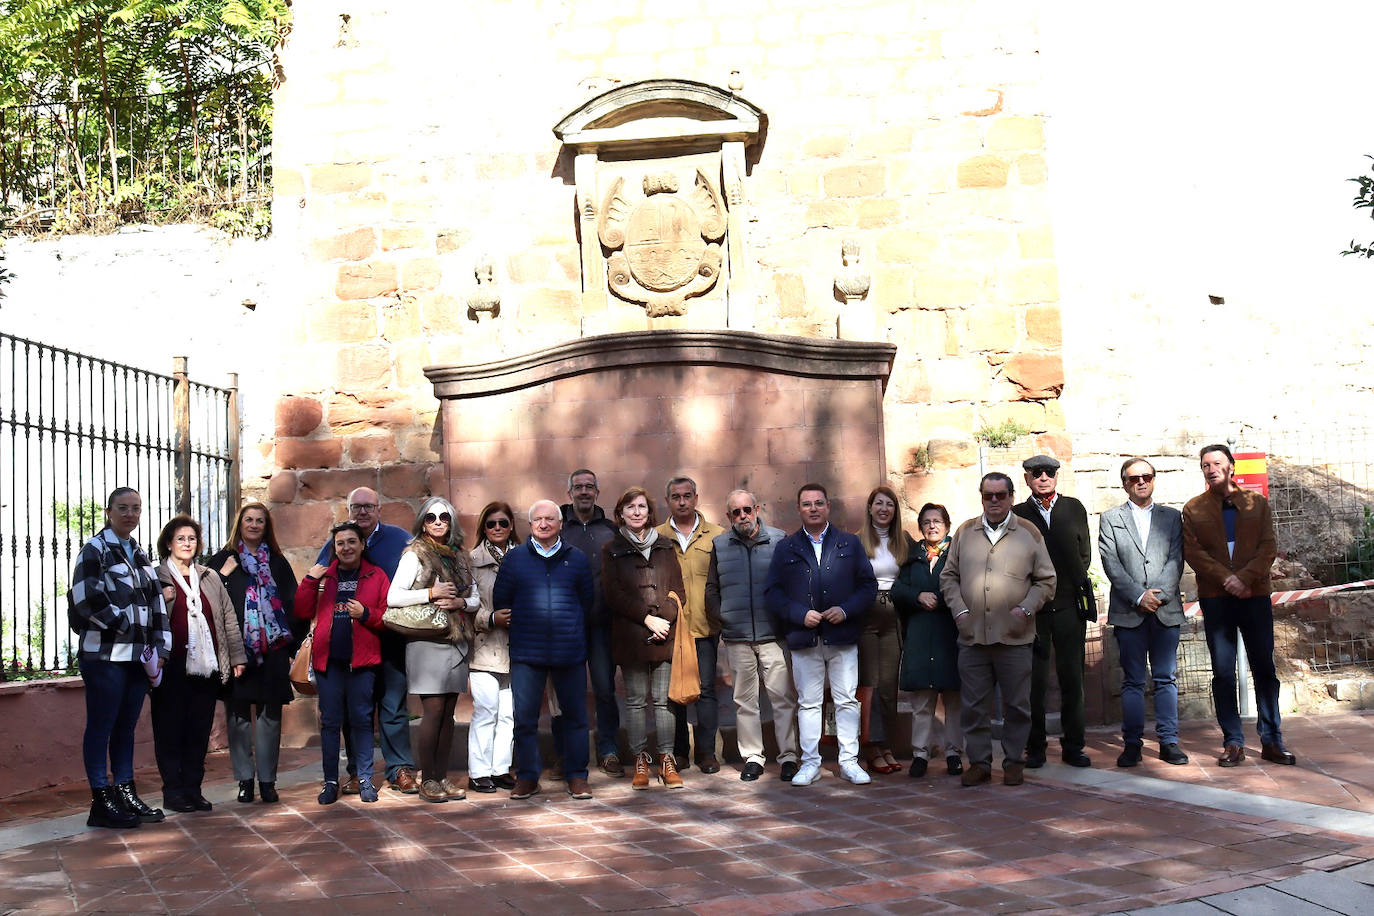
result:
M 768 564 L 787 536 L 764 525 L 758 500 L 749 490 L 725 497 L 730 530 L 712 540 L 706 570 L 706 617 L 725 644 L 735 699 L 735 736 L 745 769 L 739 779 L 753 783 L 764 775 L 764 731 L 758 715 L 758 685 L 768 692 L 782 781 L 797 775 L 797 689 L 791 656 L 774 628 L 764 600 Z

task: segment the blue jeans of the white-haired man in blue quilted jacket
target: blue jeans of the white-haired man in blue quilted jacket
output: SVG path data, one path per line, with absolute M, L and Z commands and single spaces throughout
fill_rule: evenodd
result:
M 587 665 L 526 665 L 511 662 L 511 695 L 515 715 L 515 775 L 539 780 L 539 707 L 544 684 L 552 678 L 558 705 L 563 707 L 563 777 L 587 779 Z

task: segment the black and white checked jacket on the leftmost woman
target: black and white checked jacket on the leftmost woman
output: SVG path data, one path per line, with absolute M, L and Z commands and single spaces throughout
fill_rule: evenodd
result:
M 81 636 L 81 658 L 137 662 L 153 645 L 172 654 L 172 619 L 162 603 L 157 571 L 143 548 L 133 544 L 125 556 L 120 538 L 102 530 L 81 548 L 71 589 L 67 623 Z

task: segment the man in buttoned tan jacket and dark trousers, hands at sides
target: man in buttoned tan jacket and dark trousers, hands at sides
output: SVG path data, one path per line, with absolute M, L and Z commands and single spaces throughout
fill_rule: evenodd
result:
M 982 515 L 949 540 L 940 592 L 959 629 L 965 786 L 992 779 L 992 698 L 1002 688 L 1002 781 L 1020 786 L 1030 735 L 1035 615 L 1054 596 L 1054 563 L 1035 526 L 1011 512 L 1011 478 L 978 482 Z

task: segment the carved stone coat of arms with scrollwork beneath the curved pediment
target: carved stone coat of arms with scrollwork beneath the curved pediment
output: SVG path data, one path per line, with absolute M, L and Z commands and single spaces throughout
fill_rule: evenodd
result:
M 606 192 L 596 232 L 610 249 L 611 291 L 644 306 L 650 317 L 684 314 L 686 301 L 716 286 L 725 207 L 701 169 L 691 192 L 679 194 L 677 176 L 646 174 L 644 196 L 631 202 L 625 179 Z

